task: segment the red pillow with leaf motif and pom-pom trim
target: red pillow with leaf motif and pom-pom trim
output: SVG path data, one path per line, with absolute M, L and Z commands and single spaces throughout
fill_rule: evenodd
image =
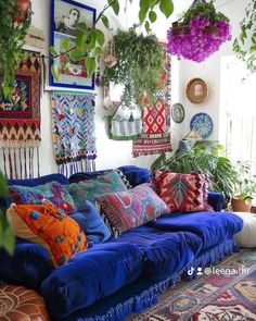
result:
M 202 173 L 191 174 L 156 171 L 154 187 L 171 212 L 194 212 L 205 210 L 207 203 L 207 181 Z

